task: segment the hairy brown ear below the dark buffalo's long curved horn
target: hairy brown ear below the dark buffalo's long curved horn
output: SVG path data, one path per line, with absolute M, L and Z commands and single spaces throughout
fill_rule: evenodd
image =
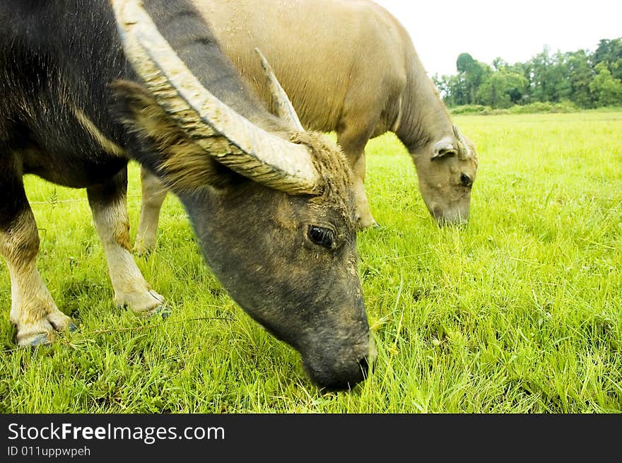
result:
M 139 146 L 131 147 L 135 149 L 129 150 L 129 156 L 157 175 L 173 192 L 222 188 L 242 180 L 194 143 L 146 88 L 124 80 L 114 81 L 110 87 L 119 119 L 140 141 Z

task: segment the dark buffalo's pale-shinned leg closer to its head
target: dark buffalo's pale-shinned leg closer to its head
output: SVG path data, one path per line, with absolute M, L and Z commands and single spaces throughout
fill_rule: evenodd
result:
M 130 307 L 141 315 L 168 315 L 164 298 L 145 281 L 130 252 L 129 218 L 127 215 L 127 169 L 115 177 L 87 190 L 110 272 L 115 303 Z

